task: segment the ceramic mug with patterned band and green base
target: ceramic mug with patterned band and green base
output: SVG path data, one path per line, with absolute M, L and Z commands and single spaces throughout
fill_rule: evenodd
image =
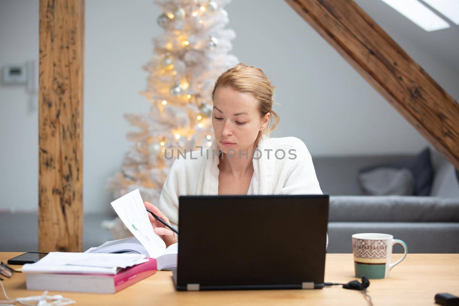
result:
M 393 239 L 389 234 L 364 233 L 352 235 L 352 252 L 354 254 L 355 277 L 388 278 L 389 271 L 408 253 L 406 243 Z M 403 245 L 405 253 L 399 260 L 391 263 L 392 245 Z

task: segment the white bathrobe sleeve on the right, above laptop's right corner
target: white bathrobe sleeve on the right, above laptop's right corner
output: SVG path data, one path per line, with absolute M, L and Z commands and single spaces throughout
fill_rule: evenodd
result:
M 315 173 L 313 160 L 306 145 L 298 139 L 295 155 L 297 157 L 291 162 L 292 170 L 285 180 L 284 187 L 281 189 L 283 195 L 323 195 L 319 181 Z M 328 233 L 325 250 L 328 248 Z

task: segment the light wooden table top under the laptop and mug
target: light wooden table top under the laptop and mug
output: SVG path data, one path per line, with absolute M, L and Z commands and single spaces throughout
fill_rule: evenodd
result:
M 6 262 L 18 252 L 0 252 Z M 400 258 L 394 254 L 392 261 Z M 13 266 L 13 268 L 20 266 Z M 347 283 L 355 279 L 352 254 L 327 254 L 325 281 Z M 273 271 L 275 273 L 275 271 Z M 3 277 L 2 277 L 3 278 Z M 5 279 L 5 278 L 4 278 Z M 10 298 L 41 295 L 27 290 L 25 275 L 14 273 L 3 282 Z M 378 305 L 434 305 L 437 293 L 459 296 L 459 254 L 408 254 L 394 267 L 390 277 L 370 280 L 367 293 Z M 116 294 L 94 294 L 50 291 L 76 300 L 78 305 L 353 305 L 366 306 L 364 295 L 341 286 L 316 290 L 238 290 L 238 291 L 176 291 L 171 271 L 156 274 Z M 3 293 L 0 290 L 0 295 Z M 4 297 L 1 296 L 0 300 Z

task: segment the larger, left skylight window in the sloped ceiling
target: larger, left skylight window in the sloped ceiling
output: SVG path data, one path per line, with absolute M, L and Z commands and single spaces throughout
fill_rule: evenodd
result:
M 449 23 L 418 0 L 381 0 L 427 32 L 449 28 Z M 431 2 L 437 2 L 432 0 Z M 427 3 L 429 1 L 426 1 Z M 441 1 L 440 1 L 441 2 Z M 434 7 L 434 6 L 432 6 Z M 446 16 L 446 15 L 445 15 Z M 449 17 L 448 17 L 449 18 Z

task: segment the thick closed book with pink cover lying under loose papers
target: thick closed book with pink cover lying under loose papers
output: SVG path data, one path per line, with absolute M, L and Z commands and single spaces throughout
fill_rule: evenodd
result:
M 28 273 L 26 284 L 29 290 L 115 293 L 155 274 L 156 271 L 156 259 L 150 258 L 147 262 L 127 267 L 115 275 Z

